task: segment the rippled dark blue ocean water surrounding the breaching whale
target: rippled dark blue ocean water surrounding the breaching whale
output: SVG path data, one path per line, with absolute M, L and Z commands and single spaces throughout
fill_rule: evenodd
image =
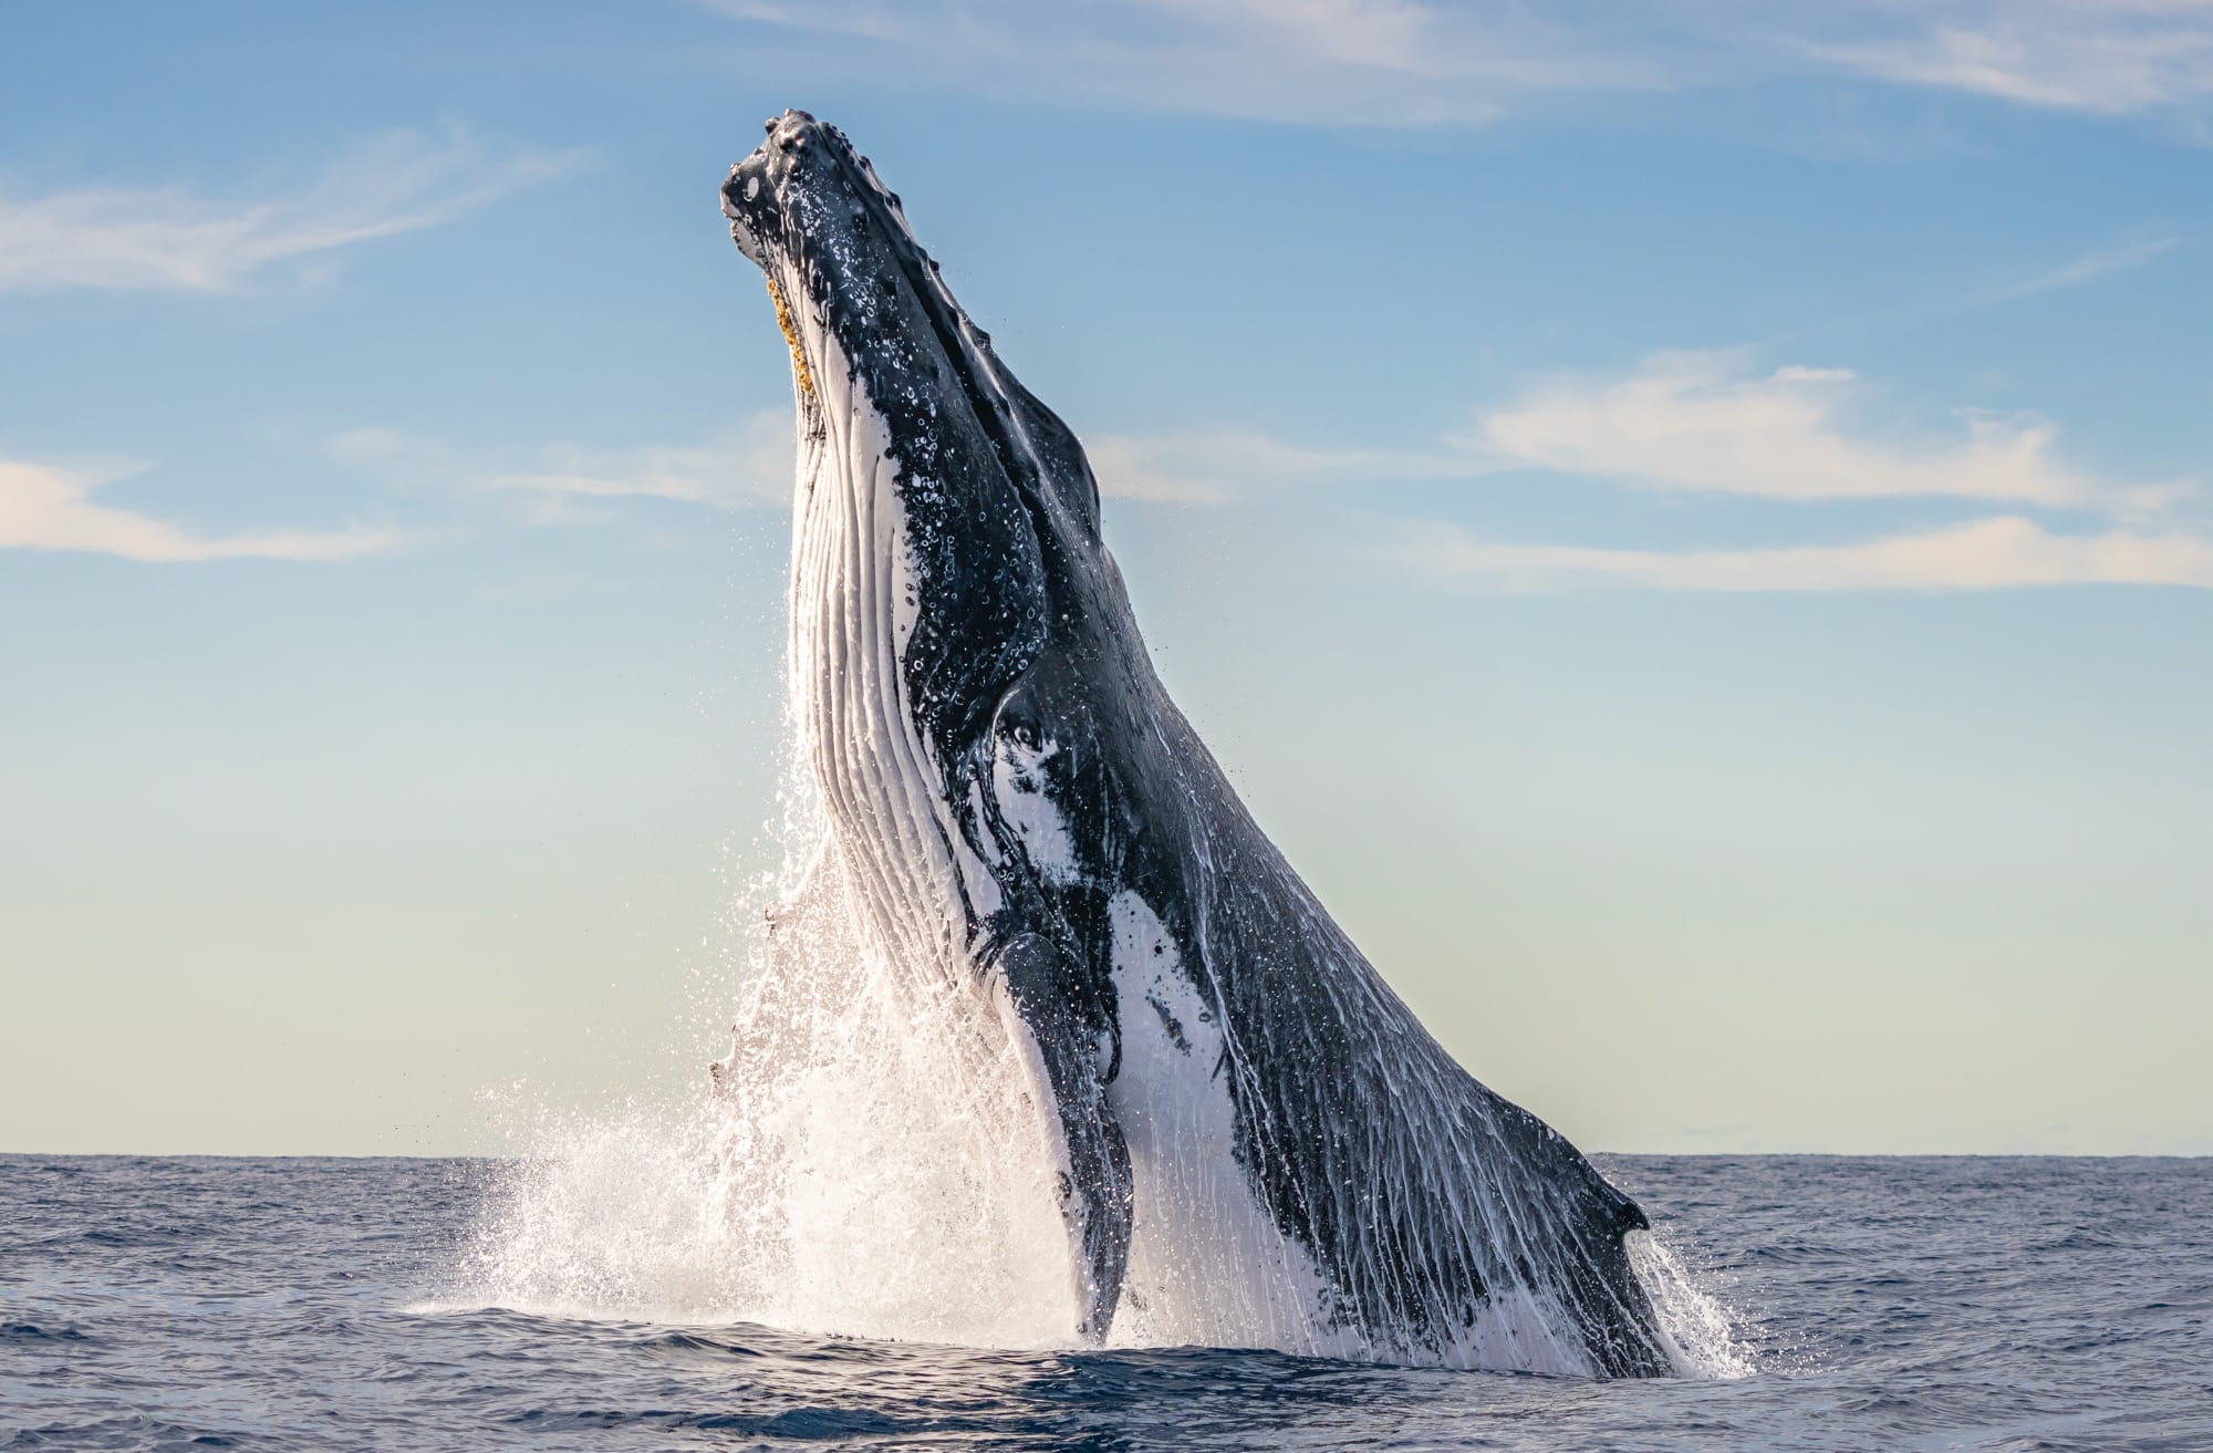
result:
M 1600 1161 L 1750 1375 L 440 1309 L 496 1165 L 0 1156 L 0 1449 L 2213 1449 L 2213 1161 Z

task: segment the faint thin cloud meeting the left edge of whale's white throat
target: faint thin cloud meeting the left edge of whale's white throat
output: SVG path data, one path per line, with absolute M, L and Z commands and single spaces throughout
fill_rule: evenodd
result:
M 792 416 L 766 410 L 697 445 L 540 443 L 463 450 L 394 430 L 339 434 L 332 454 L 389 485 L 511 498 L 533 525 L 606 518 L 615 501 L 673 501 L 708 509 L 781 505 L 792 492 Z

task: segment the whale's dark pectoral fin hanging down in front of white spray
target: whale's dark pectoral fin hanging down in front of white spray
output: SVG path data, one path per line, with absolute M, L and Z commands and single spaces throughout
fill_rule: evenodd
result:
M 1129 1267 L 1135 1183 L 1122 1123 L 1106 1103 L 1113 1008 L 1087 992 L 1080 966 L 1056 944 L 1022 935 L 998 955 L 1007 992 L 1038 1045 L 1060 1123 L 1060 1214 L 1076 1254 L 1078 1336 L 1113 1325 Z

